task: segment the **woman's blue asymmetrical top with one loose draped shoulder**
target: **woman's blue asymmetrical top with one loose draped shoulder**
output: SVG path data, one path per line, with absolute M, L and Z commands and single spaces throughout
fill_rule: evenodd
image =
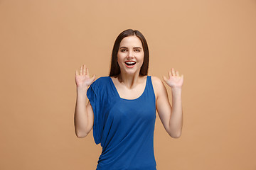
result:
M 93 137 L 102 153 L 96 170 L 156 170 L 154 127 L 156 101 L 151 76 L 139 98 L 120 98 L 110 77 L 87 89 L 93 113 Z

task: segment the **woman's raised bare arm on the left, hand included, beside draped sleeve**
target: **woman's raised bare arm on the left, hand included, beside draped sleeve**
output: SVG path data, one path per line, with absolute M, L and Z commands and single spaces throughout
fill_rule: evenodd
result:
M 87 89 L 90 84 L 95 80 L 95 75 L 90 78 L 89 70 L 85 65 L 80 67 L 80 74 L 75 72 L 75 83 L 77 84 L 77 100 L 75 105 L 75 135 L 77 137 L 86 137 L 92 130 L 94 114 L 90 101 L 87 101 Z

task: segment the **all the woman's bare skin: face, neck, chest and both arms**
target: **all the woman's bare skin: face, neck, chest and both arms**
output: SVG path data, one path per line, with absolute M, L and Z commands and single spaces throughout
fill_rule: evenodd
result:
M 142 95 L 146 86 L 146 76 L 139 75 L 144 59 L 142 42 L 137 36 L 124 38 L 119 45 L 117 53 L 117 62 L 121 74 L 117 77 L 111 77 L 121 98 L 135 99 Z M 125 61 L 137 62 L 133 68 L 128 68 Z M 183 126 L 183 111 L 181 106 L 181 86 L 183 84 L 183 75 L 181 77 L 178 71 L 171 68 L 168 72 L 169 77 L 163 77 L 164 82 L 171 88 L 172 106 L 169 103 L 169 97 L 164 83 L 158 77 L 151 77 L 154 93 L 156 96 L 156 111 L 159 114 L 161 123 L 166 132 L 171 137 L 181 136 Z M 85 64 L 80 67 L 80 74 L 75 73 L 75 82 L 77 84 L 77 105 L 75 108 L 75 132 L 78 137 L 85 137 L 92 130 L 94 114 L 90 101 L 86 107 L 86 91 L 88 86 L 95 81 L 95 75 L 90 78 L 89 70 Z

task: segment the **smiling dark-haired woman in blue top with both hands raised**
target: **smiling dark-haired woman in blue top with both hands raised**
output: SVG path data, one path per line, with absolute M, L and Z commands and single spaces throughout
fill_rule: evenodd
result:
M 164 84 L 147 75 L 148 67 L 146 40 L 139 30 L 129 29 L 114 42 L 109 77 L 95 81 L 85 65 L 80 74 L 75 72 L 75 134 L 86 137 L 93 127 L 95 143 L 102 146 L 97 170 L 155 170 L 156 111 L 166 132 L 174 138 L 181 136 L 183 75 L 172 68 L 169 78 L 163 77 L 171 87 L 171 107 Z

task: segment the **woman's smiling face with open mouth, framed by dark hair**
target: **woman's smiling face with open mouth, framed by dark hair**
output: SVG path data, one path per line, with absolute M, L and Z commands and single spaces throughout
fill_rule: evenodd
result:
M 139 72 L 144 61 L 142 42 L 137 36 L 128 36 L 120 42 L 117 62 L 121 72 L 135 74 Z

